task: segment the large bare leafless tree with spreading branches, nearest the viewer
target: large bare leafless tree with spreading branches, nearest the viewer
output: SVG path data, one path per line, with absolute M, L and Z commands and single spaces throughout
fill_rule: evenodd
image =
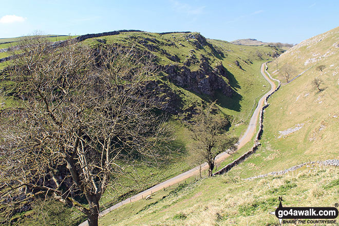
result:
M 146 88 L 156 73 L 152 55 L 71 41 L 55 48 L 39 37 L 21 47 L 12 73 L 29 92 L 22 106 L 1 113 L 2 203 L 52 196 L 98 225 L 107 186 L 128 174 L 127 166 L 168 153 L 171 133 Z

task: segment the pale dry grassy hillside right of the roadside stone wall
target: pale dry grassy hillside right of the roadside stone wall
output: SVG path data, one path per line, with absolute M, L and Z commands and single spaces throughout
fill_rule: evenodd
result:
M 337 158 L 338 43 L 339 28 L 335 28 L 282 54 L 278 58 L 278 72 L 274 62 L 269 65 L 272 76 L 280 80 L 285 64 L 295 67 L 294 76 L 308 70 L 270 98 L 264 115 L 262 145 L 250 159 L 234 168 L 241 177 L 281 170 L 308 160 Z M 319 65 L 325 65 L 325 69 L 317 70 Z M 323 81 L 322 91 L 312 85 L 315 78 Z

